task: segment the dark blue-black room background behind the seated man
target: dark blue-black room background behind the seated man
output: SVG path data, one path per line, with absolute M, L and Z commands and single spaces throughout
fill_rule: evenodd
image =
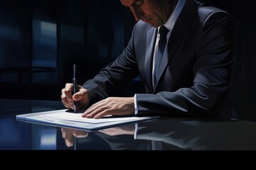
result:
M 256 3 L 201 1 L 234 18 L 230 101 L 238 118 L 256 120 Z M 134 23 L 119 0 L 0 0 L 0 98 L 60 101 L 60 90 L 72 82 L 73 64 L 79 84 L 92 79 L 122 52 Z M 139 81 L 120 95 L 134 90 L 142 91 Z

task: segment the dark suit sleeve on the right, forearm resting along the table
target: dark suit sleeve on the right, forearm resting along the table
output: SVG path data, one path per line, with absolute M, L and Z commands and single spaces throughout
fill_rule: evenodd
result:
M 233 62 L 232 19 L 227 13 L 214 13 L 201 25 L 197 38 L 193 86 L 158 94 L 137 94 L 138 115 L 218 114 L 228 91 Z

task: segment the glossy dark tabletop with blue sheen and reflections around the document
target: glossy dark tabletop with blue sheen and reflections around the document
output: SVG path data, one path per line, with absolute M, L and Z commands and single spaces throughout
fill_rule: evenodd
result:
M 16 115 L 63 109 L 60 101 L 0 100 L 0 150 L 255 150 L 256 123 L 159 118 L 86 132 L 23 123 Z

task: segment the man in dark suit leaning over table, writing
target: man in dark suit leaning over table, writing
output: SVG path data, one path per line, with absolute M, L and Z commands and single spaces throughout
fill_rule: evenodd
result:
M 194 0 L 120 1 L 138 21 L 129 44 L 117 60 L 78 86 L 78 93 L 72 95 L 73 84 L 66 84 L 61 95 L 64 106 L 73 108 L 73 101 L 78 101 L 78 108 L 90 106 L 82 115 L 86 118 L 230 116 L 225 105 L 233 62 L 230 15 Z M 162 36 L 167 43 L 159 62 L 161 26 L 167 28 Z M 111 97 L 137 75 L 146 94 Z

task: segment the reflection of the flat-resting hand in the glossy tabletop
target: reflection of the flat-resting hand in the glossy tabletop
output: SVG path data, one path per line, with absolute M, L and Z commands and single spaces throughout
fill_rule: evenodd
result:
M 116 136 L 116 135 L 134 135 L 135 125 L 124 125 L 114 128 L 108 128 L 105 130 L 99 130 L 99 132 L 105 133 L 106 135 Z

